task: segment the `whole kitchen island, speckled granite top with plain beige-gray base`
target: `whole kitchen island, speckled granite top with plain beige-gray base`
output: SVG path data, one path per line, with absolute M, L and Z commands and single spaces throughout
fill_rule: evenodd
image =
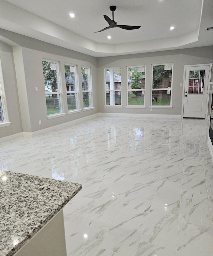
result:
M 0 170 L 0 256 L 66 255 L 63 207 L 81 189 Z

